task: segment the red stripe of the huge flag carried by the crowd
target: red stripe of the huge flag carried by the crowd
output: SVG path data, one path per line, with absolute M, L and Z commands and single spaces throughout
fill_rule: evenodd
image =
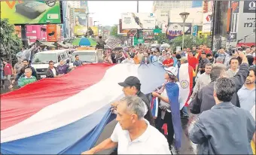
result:
M 61 78 L 47 78 L 1 95 L 1 130 L 14 126 L 42 108 L 60 102 L 102 80 L 108 64 L 88 64 Z M 82 102 L 82 101 L 81 101 Z M 70 103 L 71 106 L 75 106 Z

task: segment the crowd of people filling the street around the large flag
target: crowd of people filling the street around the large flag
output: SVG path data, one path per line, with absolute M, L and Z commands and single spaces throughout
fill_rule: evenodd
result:
M 110 138 L 83 154 L 111 147 L 117 147 L 118 153 L 179 152 L 181 119 L 187 119 L 190 113 L 199 114 L 189 132 L 190 140 L 198 144 L 198 153 L 255 153 L 254 46 L 239 50 L 221 48 L 212 53 L 206 45 L 175 51 L 139 44 L 125 50 L 103 50 L 103 53 L 105 63 L 159 63 L 166 71 L 166 82 L 156 88 L 150 98 L 140 91 L 141 83 L 136 77 L 118 83 L 123 87 L 125 97 L 112 104 L 112 111 L 117 114 L 117 126 Z M 76 55 L 73 66 L 81 65 L 83 62 Z M 183 94 L 180 93 L 182 84 L 178 71 L 184 65 L 189 69 L 190 95 L 180 108 Z M 50 61 L 47 78 L 66 74 L 70 68 L 64 61 L 57 67 Z M 12 75 L 15 76 L 13 81 Z M 18 81 L 19 87 L 38 80 L 28 59 L 19 59 L 14 68 L 4 60 L 1 76 L 11 84 Z M 157 116 L 152 114 L 152 102 L 158 102 Z M 167 125 L 167 135 L 163 133 L 163 124 Z

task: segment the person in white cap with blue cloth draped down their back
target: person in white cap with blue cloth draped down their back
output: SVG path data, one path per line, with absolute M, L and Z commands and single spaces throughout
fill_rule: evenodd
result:
M 163 123 L 167 124 L 167 140 L 169 149 L 179 149 L 181 147 L 181 115 L 179 104 L 179 83 L 177 79 L 178 69 L 175 67 L 165 68 L 164 78 L 166 83 L 160 90 L 152 93 L 157 100 L 160 99 L 159 110 L 157 114 L 156 127 L 161 132 Z M 173 146 L 175 135 L 175 147 Z

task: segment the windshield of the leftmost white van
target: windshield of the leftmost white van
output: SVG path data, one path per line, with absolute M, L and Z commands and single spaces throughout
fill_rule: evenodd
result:
M 37 53 L 32 59 L 33 64 L 48 64 L 52 60 L 54 63 L 57 62 L 57 56 L 55 53 Z

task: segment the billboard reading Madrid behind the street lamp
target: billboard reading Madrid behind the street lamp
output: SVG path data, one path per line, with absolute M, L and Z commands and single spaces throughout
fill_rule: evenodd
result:
M 169 40 L 174 39 L 180 35 L 183 35 L 183 23 L 170 23 L 167 29 L 166 35 Z M 191 23 L 184 24 L 184 34 L 190 35 L 191 34 Z

